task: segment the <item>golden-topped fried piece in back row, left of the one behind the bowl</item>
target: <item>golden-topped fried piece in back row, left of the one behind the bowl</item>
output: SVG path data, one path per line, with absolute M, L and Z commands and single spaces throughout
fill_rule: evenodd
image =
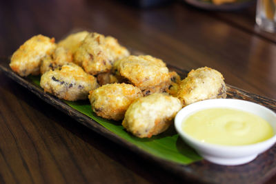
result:
M 151 56 L 130 56 L 115 61 L 112 72 L 119 81 L 131 83 L 144 95 L 166 92 L 171 81 L 166 64 Z

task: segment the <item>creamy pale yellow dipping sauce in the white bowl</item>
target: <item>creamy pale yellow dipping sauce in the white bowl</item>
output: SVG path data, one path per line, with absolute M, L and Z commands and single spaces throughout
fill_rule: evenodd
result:
M 182 130 L 199 141 L 218 145 L 250 145 L 274 135 L 273 127 L 261 117 L 228 108 L 195 112 L 184 119 Z

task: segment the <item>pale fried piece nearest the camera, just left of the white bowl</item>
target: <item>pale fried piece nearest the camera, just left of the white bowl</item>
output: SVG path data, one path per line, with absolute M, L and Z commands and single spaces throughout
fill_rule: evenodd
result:
M 130 105 L 122 125 L 135 136 L 150 138 L 167 130 L 181 108 L 181 102 L 175 97 L 150 94 Z

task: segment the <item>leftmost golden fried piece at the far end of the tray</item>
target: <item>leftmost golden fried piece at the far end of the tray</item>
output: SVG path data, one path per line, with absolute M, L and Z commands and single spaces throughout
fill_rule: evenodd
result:
M 20 76 L 39 74 L 41 59 L 55 50 L 55 39 L 39 34 L 28 39 L 12 54 L 10 68 Z

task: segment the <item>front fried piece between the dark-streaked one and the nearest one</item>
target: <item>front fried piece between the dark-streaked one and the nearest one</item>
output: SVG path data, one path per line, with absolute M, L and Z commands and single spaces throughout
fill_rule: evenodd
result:
M 141 96 L 141 90 L 131 84 L 112 83 L 92 90 L 89 99 L 98 116 L 118 121 L 124 119 L 130 103 Z

